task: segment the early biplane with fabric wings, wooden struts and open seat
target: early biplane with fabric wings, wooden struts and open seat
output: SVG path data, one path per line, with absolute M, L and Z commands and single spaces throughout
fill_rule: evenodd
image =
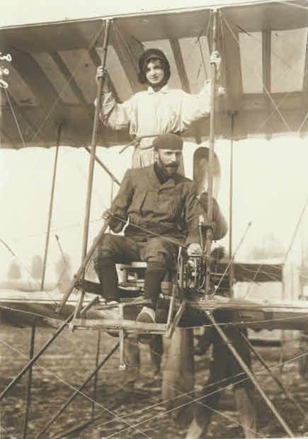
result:
M 200 190 L 208 190 L 208 199 L 212 200 L 213 182 L 215 178 L 219 180 L 216 137 L 230 139 L 233 147 L 234 141 L 248 137 L 270 139 L 285 133 L 301 137 L 307 134 L 307 18 L 307 4 L 302 0 L 258 1 L 114 16 L 104 16 L 102 11 L 101 16 L 94 18 L 0 28 L 1 148 L 55 147 L 44 270 L 59 147 L 85 148 L 91 154 L 81 265 L 67 292 L 52 292 L 50 297 L 50 292 L 44 290 L 45 271 L 40 291 L 0 292 L 1 323 L 57 329 L 1 392 L 1 399 L 67 326 L 74 331 L 102 329 L 116 333 L 120 370 L 125 369 L 124 343 L 129 333 L 160 333 L 171 337 L 177 326 L 203 327 L 210 322 L 227 341 L 215 321 L 215 312 L 221 309 L 236 316 L 232 324 L 238 326 L 307 330 L 308 305 L 304 301 L 258 302 L 232 298 L 236 282 L 282 280 L 283 264 L 239 264 L 231 250 L 228 260 L 216 263 L 214 269 L 209 262 L 210 234 L 201 253 L 181 256 L 176 274 L 162 285 L 161 300 L 168 309 L 165 324 L 135 321 L 137 310 L 146 303 L 142 297 L 144 264 L 122 266 L 122 300 L 117 305 L 119 318 L 115 320 L 104 318 L 108 305 L 104 308 L 101 304 L 99 285 L 86 280 L 86 269 L 97 242 L 108 227 L 105 223 L 88 248 L 95 164 L 108 173 L 113 186 L 119 185 L 112 171 L 96 156 L 96 147 L 129 145 L 132 141 L 127 132 L 108 130 L 99 123 L 98 106 L 95 108 L 93 102 L 96 97 L 101 98 L 102 84 L 96 89 L 93 81 L 96 67 L 102 64 L 108 68 L 114 96 L 119 102 L 125 101 L 141 87 L 137 81 L 139 56 L 148 47 L 158 47 L 171 60 L 171 86 L 195 93 L 204 79 L 212 77 L 215 84 L 210 52 L 218 50 L 226 94 L 219 101 L 212 98 L 209 119 L 200 120 L 181 133 L 198 144 L 209 140 L 208 160 L 203 161 L 204 169 L 196 171 L 195 178 Z M 257 65 L 253 77 L 247 67 L 251 59 Z M 212 212 L 211 203 L 209 212 Z M 202 222 L 200 236 L 203 236 Z M 243 363 L 236 351 L 233 353 Z M 287 435 L 292 437 L 290 427 L 252 372 L 245 364 L 243 367 Z M 37 437 L 43 437 L 46 430 Z

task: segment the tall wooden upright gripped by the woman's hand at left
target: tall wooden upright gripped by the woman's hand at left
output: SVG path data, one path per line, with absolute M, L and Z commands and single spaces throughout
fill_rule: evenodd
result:
M 109 40 L 109 28 L 110 21 L 105 21 L 105 36 L 103 42 L 103 59 L 102 66 L 105 69 L 106 60 L 107 60 L 107 50 L 108 50 L 108 40 Z M 90 210 L 91 210 L 91 196 L 92 196 L 92 188 L 93 188 L 93 175 L 94 175 L 94 165 L 95 165 L 95 156 L 96 156 L 96 144 L 98 139 L 98 127 L 99 127 L 99 111 L 101 108 L 101 95 L 103 91 L 103 81 L 105 78 L 101 77 L 98 79 L 97 86 L 97 95 L 96 95 L 96 108 L 94 113 L 94 122 L 93 122 L 93 131 L 92 131 L 92 141 L 91 141 L 91 159 L 89 164 L 89 178 L 88 178 L 88 191 L 86 195 L 86 217 L 84 219 L 84 239 L 82 244 L 82 261 L 86 258 L 86 250 L 88 247 L 88 239 L 89 239 L 89 222 L 90 222 Z M 82 273 L 84 277 L 84 272 Z M 74 317 L 79 317 L 82 303 L 84 302 L 84 290 L 80 292 L 79 301 L 76 305 L 75 315 Z

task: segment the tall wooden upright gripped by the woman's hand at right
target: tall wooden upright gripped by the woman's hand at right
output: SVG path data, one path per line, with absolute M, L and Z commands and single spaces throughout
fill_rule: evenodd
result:
M 213 11 L 212 27 L 212 53 L 216 51 L 217 42 L 217 10 Z M 213 167 L 214 167 L 214 146 L 215 146 L 215 103 L 216 103 L 216 65 L 211 63 L 211 96 L 210 96 L 210 152 L 209 152 L 209 175 L 207 185 L 207 216 L 212 221 L 213 212 Z M 210 254 L 212 244 L 212 229 L 207 229 L 206 235 L 206 280 L 205 295 L 210 295 Z

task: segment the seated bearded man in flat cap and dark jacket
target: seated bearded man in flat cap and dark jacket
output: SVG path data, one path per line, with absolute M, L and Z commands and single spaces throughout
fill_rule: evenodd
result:
M 105 235 L 95 260 L 105 300 L 115 303 L 120 299 L 115 263 L 147 261 L 144 294 L 151 304 L 137 316 L 138 321 L 147 323 L 164 321 L 164 313 L 156 309 L 161 280 L 179 246 L 199 241 L 199 215 L 205 218 L 205 226 L 212 227 L 193 182 L 176 172 L 182 157 L 181 137 L 160 135 L 153 147 L 155 163 L 128 169 L 104 214 L 113 232 L 120 232 L 129 220 L 125 236 Z

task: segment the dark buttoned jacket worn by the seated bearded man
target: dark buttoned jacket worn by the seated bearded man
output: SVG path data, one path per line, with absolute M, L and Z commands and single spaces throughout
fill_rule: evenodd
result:
M 110 221 L 113 232 L 120 232 L 129 219 L 125 235 L 141 241 L 152 232 L 186 239 L 190 244 L 199 241 L 199 215 L 203 215 L 205 225 L 210 225 L 193 181 L 176 173 L 160 183 L 153 165 L 126 171 L 110 210 L 115 215 Z

